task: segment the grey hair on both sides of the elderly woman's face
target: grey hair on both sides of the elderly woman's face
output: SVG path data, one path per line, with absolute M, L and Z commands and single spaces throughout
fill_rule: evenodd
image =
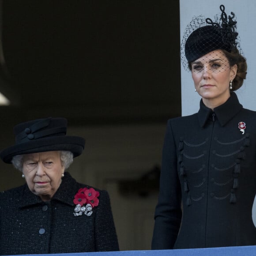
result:
M 24 154 L 18 154 L 12 158 L 11 163 L 13 164 L 15 169 L 22 172 L 23 160 L 24 160 Z M 71 151 L 60 151 L 60 162 L 61 162 L 61 166 L 64 166 L 65 169 L 68 169 L 68 167 L 73 162 L 73 153 Z

